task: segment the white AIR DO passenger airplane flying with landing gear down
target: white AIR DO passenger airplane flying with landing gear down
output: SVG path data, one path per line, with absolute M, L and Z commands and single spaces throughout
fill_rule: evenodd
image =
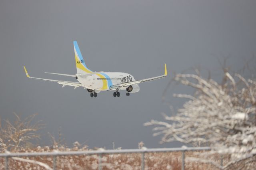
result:
M 137 81 L 134 79 L 132 75 L 128 73 L 103 71 L 93 72 L 86 66 L 85 60 L 82 57 L 82 54 L 78 47 L 78 43 L 76 41 L 74 41 L 74 52 L 77 71 L 75 75 L 60 73 L 49 74 L 75 77 L 78 82 L 30 77 L 30 75 L 28 75 L 26 67 L 24 66 L 26 76 L 31 79 L 57 82 L 58 84 L 62 85 L 62 87 L 73 86 L 74 89 L 76 89 L 77 87 L 84 87 L 84 89 L 87 89 L 87 91 L 90 93 L 90 97 L 97 97 L 97 93 L 100 93 L 100 91 L 115 91 L 113 93 L 113 96 L 120 97 L 120 90 L 126 90 L 126 96 L 130 96 L 130 93 L 136 93 L 140 91 L 140 86 L 138 85 L 139 83 L 152 81 L 167 76 L 166 64 L 164 64 L 164 75 L 151 77 L 148 79 L 141 79 Z

